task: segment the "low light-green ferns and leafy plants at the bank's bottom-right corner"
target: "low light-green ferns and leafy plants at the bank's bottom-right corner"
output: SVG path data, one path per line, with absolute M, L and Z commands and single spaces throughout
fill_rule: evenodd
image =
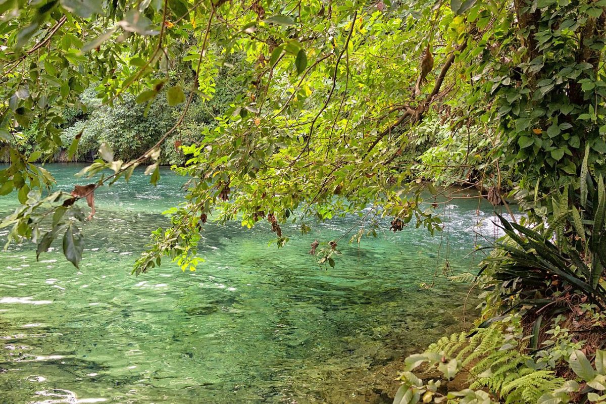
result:
M 519 320 L 519 317 L 511 317 Z M 513 329 L 516 329 L 515 322 Z M 402 386 L 394 404 L 459 403 L 459 404 L 566 404 L 571 393 L 582 402 L 603 404 L 606 400 L 606 351 L 597 351 L 595 368 L 582 351 L 576 349 L 568 360 L 576 380 L 564 380 L 553 371 L 541 369 L 533 357 L 520 351 L 527 338 L 504 333 L 503 324 L 476 329 L 473 334 L 453 334 L 431 344 L 422 354 L 405 360 Z M 445 380 L 459 374 L 468 388 L 443 392 L 444 380 L 424 383 L 412 371 L 423 363 L 437 368 Z M 579 382 L 584 382 L 583 384 Z

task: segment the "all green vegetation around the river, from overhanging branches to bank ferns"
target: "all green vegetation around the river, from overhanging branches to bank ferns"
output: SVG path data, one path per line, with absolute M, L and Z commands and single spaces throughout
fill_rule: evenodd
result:
M 140 164 L 152 184 L 159 164 L 191 178 L 137 274 L 166 256 L 193 270 L 207 220 L 268 220 L 278 247 L 284 222 L 344 214 L 353 241 L 378 217 L 433 233 L 436 186 L 464 184 L 527 217 L 502 217 L 473 280 L 479 329 L 409 360 L 465 389 L 407 372 L 396 402 L 605 400 L 606 1 L 13 0 L 0 15 L 9 242 L 41 254 L 62 237 L 81 260 L 78 197 L 43 193 L 36 162 L 95 159 L 98 187 Z M 310 253 L 334 266 L 338 242 Z

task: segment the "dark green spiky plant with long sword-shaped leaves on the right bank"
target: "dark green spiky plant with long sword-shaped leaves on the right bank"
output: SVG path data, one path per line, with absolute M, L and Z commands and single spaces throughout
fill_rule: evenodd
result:
M 561 310 L 562 305 L 556 303 L 574 300 L 575 294 L 601 308 L 606 305 L 602 280 L 606 190 L 602 177 L 594 181 L 587 175 L 586 180 L 581 187 L 581 210 L 574 205 L 569 208 L 565 194 L 553 197 L 553 220 L 542 231 L 499 216 L 507 240 L 497 243 L 480 273 L 488 270 L 492 277 L 487 287 L 499 295 L 501 310 L 521 306 L 531 306 L 536 313 L 548 306 Z M 566 228 L 566 223 L 571 225 Z

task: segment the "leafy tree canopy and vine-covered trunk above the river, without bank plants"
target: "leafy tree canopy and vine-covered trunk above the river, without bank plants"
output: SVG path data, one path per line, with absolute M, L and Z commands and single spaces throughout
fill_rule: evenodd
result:
M 511 191 L 548 217 L 554 190 L 569 187 L 566 203 L 580 207 L 584 178 L 604 170 L 602 1 L 13 0 L 0 13 L 10 159 L 0 186 L 23 204 L 2 222 L 11 239 L 39 242 L 59 207 L 67 219 L 50 231 L 73 222 L 73 199 L 30 193 L 52 184 L 38 159 L 90 151 L 94 138 L 101 153 L 84 174 L 99 186 L 144 162 L 155 184 L 168 150 L 184 153 L 184 204 L 154 232 L 137 273 L 163 255 L 195 267 L 210 219 L 267 219 L 278 246 L 287 220 L 306 232 L 367 207 L 361 226 L 382 215 L 395 231 L 436 231 L 441 220 L 424 204 L 433 177 L 494 203 Z M 222 75 L 230 81 L 218 87 Z M 82 110 L 91 86 L 109 121 L 78 130 L 64 111 Z M 141 108 L 165 126 L 135 123 L 124 137 L 116 122 Z M 196 108 L 210 108 L 212 123 L 188 118 Z M 35 150 L 18 147 L 22 131 Z M 336 240 L 320 245 L 331 259 Z

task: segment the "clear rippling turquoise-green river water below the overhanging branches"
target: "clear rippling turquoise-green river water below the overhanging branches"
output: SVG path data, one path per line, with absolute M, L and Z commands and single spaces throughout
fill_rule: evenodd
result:
M 81 167 L 47 168 L 68 191 L 82 184 L 73 177 Z M 494 237 L 486 204 L 476 213 L 478 200 L 459 200 L 445 209 L 444 237 L 387 225 L 360 246 L 342 240 L 336 267 L 323 270 L 309 244 L 356 218 L 306 236 L 285 225 L 291 240 L 280 250 L 268 247 L 265 222 L 207 225 L 198 271 L 165 262 L 132 276 L 183 182 L 165 170 L 154 188 L 136 171 L 98 190 L 95 219 L 81 225 L 80 270 L 60 242 L 40 262 L 29 243 L 0 253 L 0 403 L 385 402 L 379 386 L 393 385 L 398 360 L 463 326 L 467 285 L 442 276 L 432 290 L 419 284 L 441 271 L 446 250 L 455 273 L 474 270 L 478 259 L 465 257 L 474 231 Z M 14 204 L 3 198 L 0 213 Z

